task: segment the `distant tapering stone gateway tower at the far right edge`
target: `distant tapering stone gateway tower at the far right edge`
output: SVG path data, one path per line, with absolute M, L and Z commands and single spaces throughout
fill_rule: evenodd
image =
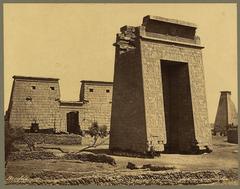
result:
M 214 123 L 214 131 L 226 134 L 227 128 L 237 125 L 237 111 L 231 100 L 231 91 L 221 91 Z

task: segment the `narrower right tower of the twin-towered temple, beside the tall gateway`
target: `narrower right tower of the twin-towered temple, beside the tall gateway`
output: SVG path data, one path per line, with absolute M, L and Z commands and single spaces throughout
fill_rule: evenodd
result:
M 80 101 L 83 109 L 79 114 L 82 130 L 88 130 L 94 121 L 110 129 L 112 108 L 112 82 L 81 81 Z

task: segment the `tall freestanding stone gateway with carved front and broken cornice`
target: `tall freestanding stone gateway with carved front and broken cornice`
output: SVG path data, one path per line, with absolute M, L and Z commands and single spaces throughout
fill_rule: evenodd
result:
M 196 25 L 146 16 L 117 34 L 110 150 L 211 149 Z

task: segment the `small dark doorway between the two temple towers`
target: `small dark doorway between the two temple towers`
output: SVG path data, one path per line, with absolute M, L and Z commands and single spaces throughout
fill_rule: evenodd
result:
M 69 133 L 80 134 L 78 111 L 67 113 L 67 131 Z

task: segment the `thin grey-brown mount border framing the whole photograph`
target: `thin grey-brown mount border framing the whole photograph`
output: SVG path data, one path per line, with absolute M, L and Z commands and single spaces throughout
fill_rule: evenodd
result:
M 3 33 L 3 28 L 4 28 L 4 23 L 3 23 L 3 5 L 5 3 L 236 3 L 237 4 L 237 15 L 239 16 L 240 9 L 239 9 L 239 1 L 237 0 L 208 0 L 208 1 L 203 1 L 203 0 L 4 0 L 1 1 L 1 6 L 0 6 L 0 45 L 1 45 L 1 50 L 0 50 L 0 140 L 1 140 L 1 145 L 0 145 L 0 188 L 9 188 L 9 189 L 20 189 L 20 188 L 99 188 L 102 186 L 96 186 L 96 185 L 88 185 L 88 186 L 24 186 L 24 185 L 5 185 L 5 167 L 4 167 L 4 33 Z M 240 19 L 237 19 L 237 30 L 239 30 L 239 21 Z M 240 53 L 239 53 L 239 44 L 240 44 L 240 34 L 237 32 L 237 57 L 238 57 L 238 89 L 240 88 L 240 83 L 239 83 L 239 59 L 240 59 Z M 238 107 L 240 98 L 238 94 Z M 238 115 L 239 118 L 239 115 Z M 238 133 L 239 135 L 239 133 Z M 240 158 L 239 158 L 240 159 Z M 108 188 L 122 188 L 123 186 L 111 186 Z M 126 186 L 124 186 L 126 187 Z M 169 186 L 134 186 L 134 188 L 168 188 Z M 180 187 L 180 186 L 171 186 L 173 188 L 175 187 Z M 189 188 L 188 186 L 181 186 L 181 188 Z M 191 186 L 195 187 L 195 186 Z M 219 186 L 197 186 L 197 187 L 211 187 L 211 188 L 219 188 Z M 223 186 L 221 186 L 223 187 Z M 224 188 L 237 188 L 237 186 L 224 186 Z M 133 188 L 133 186 L 127 186 L 127 188 Z

